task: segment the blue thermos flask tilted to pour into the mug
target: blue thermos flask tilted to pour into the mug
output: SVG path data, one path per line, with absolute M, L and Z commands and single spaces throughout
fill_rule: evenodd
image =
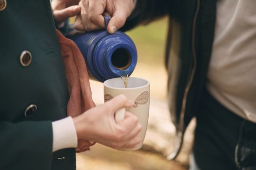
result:
M 104 17 L 105 28 L 111 17 Z M 131 74 L 137 64 L 133 40 L 123 32 L 93 31 L 70 37 L 79 47 L 89 73 L 100 82 Z

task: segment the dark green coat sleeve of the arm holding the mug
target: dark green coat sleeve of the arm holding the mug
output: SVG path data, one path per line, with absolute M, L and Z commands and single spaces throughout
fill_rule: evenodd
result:
M 0 170 L 50 170 L 52 122 L 0 121 Z

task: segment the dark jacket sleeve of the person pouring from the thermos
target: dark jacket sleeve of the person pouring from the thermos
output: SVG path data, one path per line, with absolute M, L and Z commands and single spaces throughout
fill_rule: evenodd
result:
M 181 0 L 137 0 L 136 7 L 127 18 L 121 31 L 129 30 L 140 23 L 148 23 L 166 15 L 176 16 Z

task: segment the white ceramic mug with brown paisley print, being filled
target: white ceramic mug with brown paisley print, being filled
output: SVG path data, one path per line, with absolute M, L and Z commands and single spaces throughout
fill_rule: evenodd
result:
M 138 117 L 138 122 L 142 125 L 142 130 L 139 132 L 141 142 L 135 148 L 120 148 L 121 151 L 134 151 L 142 147 L 148 125 L 149 115 L 149 82 L 145 79 L 137 77 L 129 77 L 128 86 L 125 88 L 121 78 L 113 78 L 106 80 L 104 83 L 104 102 L 112 98 L 124 94 L 129 100 L 133 101 L 135 105 L 126 108 Z M 115 114 L 115 120 L 121 121 L 124 119 L 125 108 L 119 109 Z

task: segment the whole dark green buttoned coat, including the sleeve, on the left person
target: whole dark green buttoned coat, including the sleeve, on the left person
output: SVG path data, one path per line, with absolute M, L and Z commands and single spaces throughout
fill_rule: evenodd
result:
M 32 55 L 27 67 L 22 51 Z M 7 0 L 0 11 L 0 170 L 75 169 L 74 149 L 52 153 L 52 121 L 66 117 L 68 99 L 50 0 Z M 31 104 L 37 109 L 26 117 Z

